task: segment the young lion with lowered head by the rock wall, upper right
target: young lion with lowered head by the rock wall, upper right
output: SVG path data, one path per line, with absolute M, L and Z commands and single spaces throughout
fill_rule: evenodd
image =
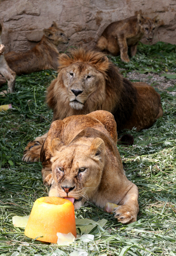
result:
M 131 56 L 135 56 L 137 44 L 143 35 L 148 41 L 152 41 L 158 22 L 159 16 L 150 19 L 144 18 L 141 14 L 113 22 L 105 28 L 96 46 L 114 56 L 120 52 L 121 60 L 129 62 L 128 46 L 131 47 Z

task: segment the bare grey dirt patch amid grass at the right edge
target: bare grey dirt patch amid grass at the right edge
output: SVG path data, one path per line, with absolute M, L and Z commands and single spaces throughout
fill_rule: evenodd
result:
M 155 73 L 147 73 L 147 74 L 140 74 L 135 71 L 128 72 L 127 78 L 131 80 L 140 80 L 142 82 L 146 82 L 154 87 L 167 90 L 168 87 L 173 87 L 176 84 L 176 79 L 167 79 L 161 76 L 162 73 L 155 74 Z M 173 72 L 167 72 L 167 74 L 175 74 Z M 168 92 L 173 96 L 176 92 Z

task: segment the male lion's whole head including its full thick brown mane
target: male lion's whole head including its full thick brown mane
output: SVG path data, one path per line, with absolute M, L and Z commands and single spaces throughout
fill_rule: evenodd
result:
M 111 112 L 121 87 L 122 77 L 104 53 L 79 47 L 59 56 L 58 77 L 46 99 L 53 120 L 99 109 Z

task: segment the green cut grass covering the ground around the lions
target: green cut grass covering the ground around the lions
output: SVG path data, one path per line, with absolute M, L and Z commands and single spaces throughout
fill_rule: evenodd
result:
M 149 67 L 156 70 L 156 65 L 158 70 L 164 71 L 165 62 L 159 53 L 169 60 L 166 67 L 175 71 L 175 46 L 163 43 L 140 44 L 136 57 L 127 64 L 119 57 L 112 59 L 126 71 L 140 70 L 139 58 L 146 61 L 144 71 Z M 151 63 L 150 58 L 153 59 Z M 28 215 L 34 201 L 48 195 L 49 188 L 42 182 L 41 163 L 27 164 L 21 158 L 28 141 L 49 129 L 52 111 L 44 99 L 46 87 L 55 76 L 54 71 L 42 71 L 17 77 L 15 92 L 0 98 L 1 105 L 12 103 L 13 106 L 13 109 L 0 112 L 0 255 L 3 256 L 14 252 L 16 255 L 17 252 L 19 255 L 49 256 L 52 252 L 55 252 L 53 256 L 59 255 L 55 251 L 57 245 L 25 237 L 24 229 L 12 224 L 14 215 Z M 6 88 L 5 85 L 3 89 Z M 134 145 L 118 146 L 126 175 L 139 189 L 137 222 L 122 225 L 113 215 L 95 206 L 81 207 L 75 212 L 77 218 L 108 220 L 104 231 L 93 231 L 95 243 L 85 248 L 90 255 L 176 255 L 176 100 L 164 91 L 159 93 L 163 118 L 150 129 L 126 131 L 134 136 Z M 83 246 L 79 240 L 75 244 Z M 66 255 L 73 248 L 73 245 L 59 247 Z

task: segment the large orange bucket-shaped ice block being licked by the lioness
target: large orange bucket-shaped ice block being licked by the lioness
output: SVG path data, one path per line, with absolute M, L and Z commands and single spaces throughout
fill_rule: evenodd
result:
M 57 243 L 57 232 L 71 232 L 76 237 L 73 203 L 59 197 L 38 198 L 34 202 L 24 234 L 32 239 L 39 237 L 37 240 Z

